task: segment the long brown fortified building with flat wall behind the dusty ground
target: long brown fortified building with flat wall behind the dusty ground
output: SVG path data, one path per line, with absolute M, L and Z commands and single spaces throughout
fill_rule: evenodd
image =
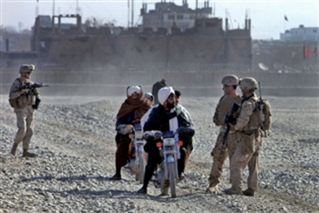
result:
M 159 5 L 175 4 L 162 2 Z M 211 10 L 208 3 L 205 6 L 203 10 Z M 184 7 L 176 7 L 175 11 L 194 13 L 186 1 Z M 62 18 L 76 18 L 77 25 L 67 28 L 61 23 Z M 154 64 L 157 70 L 185 70 L 185 67 L 187 70 L 198 70 L 196 67 L 221 70 L 229 66 L 251 69 L 250 20 L 245 20 L 245 28 L 230 30 L 226 19 L 223 30 L 222 19 L 199 18 L 193 20 L 192 28 L 182 30 L 174 26 L 167 35 L 168 30 L 163 27 L 145 27 L 142 31 L 134 27 L 87 27 L 80 22 L 79 15 L 58 15 L 54 19 L 58 19 L 58 24 L 38 16 L 33 28 L 32 51 L 38 53 L 41 63 L 81 68 L 124 66 L 131 70 L 134 67 L 140 70 L 140 65 L 144 65 L 144 69 L 154 67 Z

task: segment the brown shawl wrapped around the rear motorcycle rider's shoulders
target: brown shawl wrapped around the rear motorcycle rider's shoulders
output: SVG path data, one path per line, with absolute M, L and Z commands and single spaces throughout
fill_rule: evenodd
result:
M 134 119 L 140 120 L 143 115 L 153 107 L 153 104 L 150 100 L 145 99 L 144 92 L 141 88 L 141 92 L 137 99 L 132 99 L 127 96 L 127 99 L 122 103 L 119 112 L 116 115 L 116 120 L 120 117 L 134 111 Z

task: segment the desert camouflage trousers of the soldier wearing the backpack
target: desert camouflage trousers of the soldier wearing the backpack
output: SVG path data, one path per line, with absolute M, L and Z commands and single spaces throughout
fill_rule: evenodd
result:
M 242 136 L 242 134 L 241 134 Z M 247 178 L 247 186 L 250 189 L 257 190 L 258 185 L 258 151 L 262 144 L 262 138 L 259 134 L 254 138 L 254 150 L 253 152 L 247 151 L 247 146 L 243 145 L 249 142 L 244 141 L 243 137 L 240 137 L 240 142 L 236 148 L 236 151 L 230 161 L 230 175 L 232 188 L 234 190 L 242 190 L 242 172 L 246 166 L 248 166 L 249 175 Z M 245 137 L 244 137 L 245 138 Z

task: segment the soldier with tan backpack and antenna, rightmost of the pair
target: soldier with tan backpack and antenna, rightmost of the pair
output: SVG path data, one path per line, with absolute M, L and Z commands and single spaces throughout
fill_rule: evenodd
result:
M 244 194 L 254 196 L 258 179 L 258 150 L 262 144 L 259 113 L 256 110 L 257 82 L 254 78 L 246 77 L 240 80 L 239 86 L 243 93 L 241 111 L 233 130 L 240 132 L 240 142 L 230 162 L 232 188 L 225 190 L 227 194 Z M 231 128 L 231 129 L 232 129 Z M 242 191 L 242 172 L 248 165 L 248 189 Z

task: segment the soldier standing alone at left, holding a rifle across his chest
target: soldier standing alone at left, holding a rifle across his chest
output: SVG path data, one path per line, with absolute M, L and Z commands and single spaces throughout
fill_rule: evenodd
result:
M 17 78 L 11 85 L 9 102 L 13 101 L 16 104 L 13 105 L 14 112 L 17 115 L 17 126 L 18 132 L 14 138 L 14 143 L 11 148 L 11 154 L 16 155 L 17 147 L 22 141 L 23 146 L 23 157 L 35 157 L 36 154 L 28 152 L 30 146 L 30 140 L 33 135 L 33 112 L 34 109 L 32 105 L 35 104 L 36 96 L 39 95 L 37 90 L 33 90 L 33 95 L 28 94 L 28 91 L 19 91 L 18 86 L 23 85 L 24 83 L 31 83 L 29 80 L 31 72 L 34 70 L 34 65 L 24 64 L 20 67 L 19 73 L 20 77 Z M 19 103 L 19 104 L 17 104 Z M 11 105 L 12 106 L 12 105 Z

